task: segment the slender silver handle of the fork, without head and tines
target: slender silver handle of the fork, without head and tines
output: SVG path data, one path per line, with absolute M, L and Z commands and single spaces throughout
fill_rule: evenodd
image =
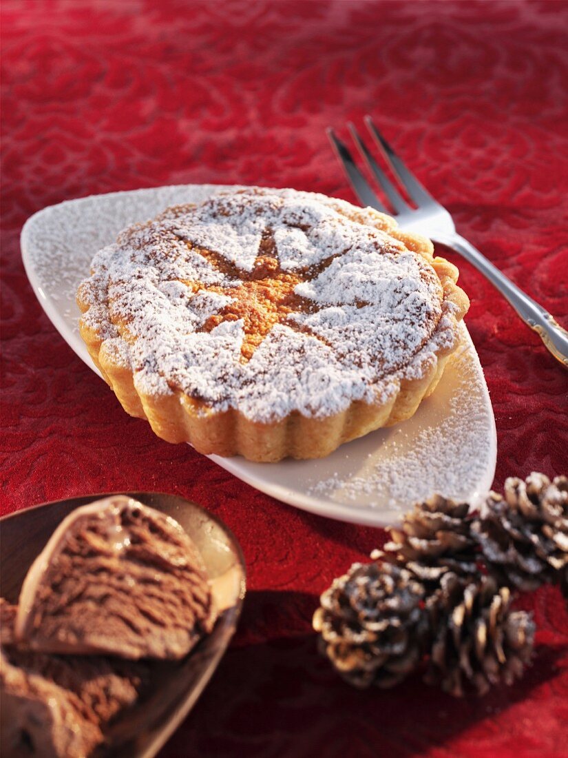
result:
M 463 258 L 466 258 L 478 271 L 488 278 L 495 289 L 510 302 L 517 315 L 531 327 L 541 338 L 545 347 L 552 353 L 554 358 L 568 368 L 568 331 L 545 310 L 542 305 L 529 297 L 517 284 L 507 278 L 499 269 L 482 255 L 470 242 L 463 239 L 459 234 L 436 235 L 434 241 L 447 245 Z

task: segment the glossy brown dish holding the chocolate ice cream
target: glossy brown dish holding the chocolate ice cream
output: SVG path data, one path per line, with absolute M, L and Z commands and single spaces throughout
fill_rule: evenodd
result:
M 55 500 L 0 518 L 0 590 L 17 603 L 28 568 L 45 547 L 58 524 L 73 509 L 109 494 Z M 245 597 L 245 560 L 233 533 L 201 506 L 176 495 L 154 492 L 120 493 L 176 519 L 203 556 L 211 580 L 223 582 L 226 608 L 214 630 L 189 653 L 175 662 L 152 662 L 146 694 L 110 731 L 105 756 L 151 758 L 186 718 L 217 668 L 233 637 Z

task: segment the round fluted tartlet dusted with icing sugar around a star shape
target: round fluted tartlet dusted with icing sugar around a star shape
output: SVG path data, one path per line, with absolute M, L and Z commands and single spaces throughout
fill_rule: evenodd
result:
M 98 252 L 80 332 L 126 412 L 164 440 L 319 458 L 435 389 L 469 306 L 457 274 L 372 208 L 223 192 Z

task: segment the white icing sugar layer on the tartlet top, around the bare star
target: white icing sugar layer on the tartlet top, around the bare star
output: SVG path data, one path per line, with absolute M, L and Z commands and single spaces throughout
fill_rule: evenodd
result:
M 170 208 L 95 255 L 80 287 L 92 304 L 83 320 L 112 340 L 142 393 L 174 387 L 254 421 L 385 402 L 454 342 L 456 327 L 426 260 L 341 208 L 293 190 Z M 254 280 L 262 255 L 298 278 L 299 305 L 243 361 L 244 319 L 208 323 Z

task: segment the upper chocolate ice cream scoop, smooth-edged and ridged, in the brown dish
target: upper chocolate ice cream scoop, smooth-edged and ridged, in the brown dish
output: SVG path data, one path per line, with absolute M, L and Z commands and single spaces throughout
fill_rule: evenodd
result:
M 186 532 L 111 496 L 55 530 L 23 582 L 15 637 L 49 653 L 177 659 L 213 623 L 203 562 Z

